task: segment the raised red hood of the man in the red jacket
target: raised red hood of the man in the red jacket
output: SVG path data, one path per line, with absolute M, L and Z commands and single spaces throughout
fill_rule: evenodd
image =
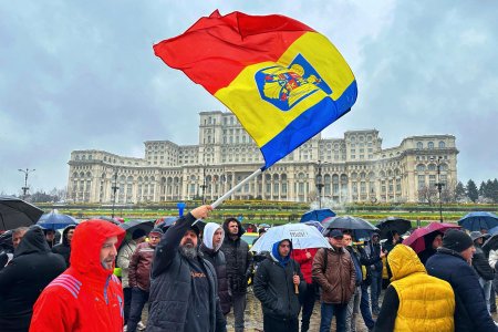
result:
M 71 245 L 71 268 L 82 274 L 108 277 L 112 270 L 106 270 L 101 263 L 102 245 L 110 237 L 117 237 L 116 249 L 125 237 L 125 230 L 105 220 L 87 220 L 77 225 Z

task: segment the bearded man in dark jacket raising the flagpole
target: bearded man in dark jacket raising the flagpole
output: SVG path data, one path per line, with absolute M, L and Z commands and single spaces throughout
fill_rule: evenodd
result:
M 157 245 L 151 272 L 147 331 L 226 331 L 216 271 L 198 251 L 199 229 L 194 225 L 211 210 L 205 205 L 180 217 Z

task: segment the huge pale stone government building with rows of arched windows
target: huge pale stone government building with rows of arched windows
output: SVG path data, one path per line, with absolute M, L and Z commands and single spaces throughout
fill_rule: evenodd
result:
M 216 200 L 264 164 L 232 113 L 199 115 L 198 145 L 147 141 L 143 158 L 72 152 L 68 198 L 97 204 Z M 311 201 L 321 194 L 335 203 L 418 201 L 437 183 L 456 184 L 457 154 L 452 135 L 411 136 L 383 148 L 375 129 L 350 131 L 343 138 L 319 134 L 231 198 Z

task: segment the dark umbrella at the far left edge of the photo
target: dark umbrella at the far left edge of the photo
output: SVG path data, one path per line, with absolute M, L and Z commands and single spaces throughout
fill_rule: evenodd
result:
M 43 210 L 22 199 L 0 196 L 0 230 L 34 225 Z

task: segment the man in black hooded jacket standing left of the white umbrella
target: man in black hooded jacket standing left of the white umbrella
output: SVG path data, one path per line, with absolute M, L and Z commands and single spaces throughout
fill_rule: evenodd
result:
M 252 272 L 252 255 L 249 245 L 240 237 L 245 234 L 240 221 L 234 217 L 224 222 L 227 235 L 221 251 L 227 259 L 228 284 L 234 305 L 235 332 L 243 332 L 243 311 L 246 310 L 247 280 Z

